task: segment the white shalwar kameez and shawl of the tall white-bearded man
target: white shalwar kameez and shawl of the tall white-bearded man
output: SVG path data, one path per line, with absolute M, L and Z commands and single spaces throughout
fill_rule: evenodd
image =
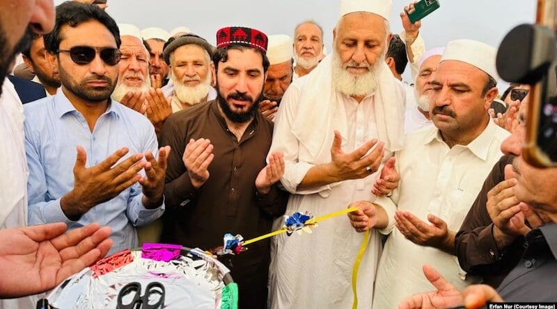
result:
M 354 201 L 377 199 L 371 189 L 379 177 L 378 172 L 363 179 L 342 181 L 313 190 L 297 190 L 311 167 L 330 162 L 335 129 L 343 137 L 342 149 L 345 153 L 354 151 L 373 138 L 385 141 L 384 160 L 392 156 L 393 150 L 402 148 L 404 138 L 404 90 L 391 72 L 387 72 L 386 65 L 382 71 L 385 74 L 380 76 L 384 78 L 384 82 L 380 82 L 378 90 L 366 95 L 361 103 L 335 90 L 331 92 L 331 80 L 329 89 L 327 83 L 313 83 L 318 76 L 324 76 L 325 80 L 330 78 L 330 56 L 315 70 L 317 71 L 314 74 L 292 83 L 285 93 L 278 110 L 273 143 L 269 151 L 284 153 L 285 174 L 281 183 L 286 190 L 293 193 L 288 201 L 287 215 L 308 211 L 317 217 L 342 210 Z M 304 96 L 304 91 L 308 89 L 322 94 L 314 96 L 316 100 L 313 102 L 304 101 L 304 98 L 308 98 Z M 386 89 L 391 93 L 386 94 Z M 381 94 L 379 91 L 382 91 Z M 317 99 L 320 95 L 324 96 L 322 100 Z M 330 107 L 327 107 L 329 103 L 332 106 L 337 104 L 337 107 L 327 114 L 323 110 Z M 302 107 L 303 104 L 309 104 L 310 107 Z M 312 104 L 321 107 L 313 108 Z M 323 112 L 328 116 L 323 117 Z M 300 121 L 307 122 L 308 131 L 305 133 L 303 129 L 297 128 Z M 301 135 L 306 142 L 299 139 Z M 322 140 L 321 147 L 315 147 L 319 145 L 319 142 L 314 143 L 316 140 Z M 312 153 L 311 149 L 319 150 Z M 389 217 L 394 211 L 394 207 L 386 209 Z M 278 219 L 275 227 L 281 224 Z M 363 233 L 357 233 L 352 228 L 346 215 L 320 222 L 313 228 L 312 234 L 295 233 L 290 237 L 285 234 L 275 237 L 269 272 L 270 306 L 276 309 L 351 308 L 352 267 L 362 242 Z M 370 308 L 372 305 L 373 282 L 381 248 L 379 231 L 373 229 L 357 277 L 358 308 Z

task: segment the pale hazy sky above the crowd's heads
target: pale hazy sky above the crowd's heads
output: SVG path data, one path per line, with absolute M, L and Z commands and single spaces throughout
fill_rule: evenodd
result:
M 375 0 L 377 1 L 377 0 Z M 379 0 L 383 1 L 383 0 Z M 55 0 L 56 5 L 62 0 Z M 399 13 L 410 1 L 393 0 L 391 31 L 400 33 Z M 157 26 L 167 31 L 187 26 L 215 43 L 215 33 L 225 26 L 249 26 L 267 35 L 287 34 L 313 19 L 324 29 L 324 44 L 331 51 L 332 32 L 338 19 L 338 0 L 108 0 L 107 12 L 119 23 L 139 28 Z M 480 40 L 499 47 L 510 29 L 535 20 L 535 0 L 441 0 L 441 8 L 422 21 L 426 49 L 450 40 Z M 410 69 L 403 75 L 410 82 Z

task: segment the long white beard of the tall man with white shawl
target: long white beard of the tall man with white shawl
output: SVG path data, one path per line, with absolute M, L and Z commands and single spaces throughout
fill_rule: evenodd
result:
M 375 89 L 379 84 L 379 69 L 381 69 L 382 62 L 379 59 L 383 59 L 384 56 L 378 58 L 375 65 L 371 66 L 368 62 L 364 62 L 364 65 L 368 67 L 368 72 L 360 76 L 353 76 L 347 71 L 345 67 L 349 64 L 357 66 L 354 63 L 343 64 L 340 61 L 340 56 L 337 51 L 333 51 L 333 84 L 335 89 L 340 91 L 347 96 L 363 96 Z M 352 62 L 352 60 L 350 60 Z

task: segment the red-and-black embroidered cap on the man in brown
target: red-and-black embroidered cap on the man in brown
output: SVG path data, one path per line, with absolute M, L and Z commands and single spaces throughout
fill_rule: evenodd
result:
M 268 43 L 267 35 L 253 28 L 226 27 L 217 31 L 217 49 L 227 47 L 230 44 L 240 44 L 260 49 L 267 53 Z

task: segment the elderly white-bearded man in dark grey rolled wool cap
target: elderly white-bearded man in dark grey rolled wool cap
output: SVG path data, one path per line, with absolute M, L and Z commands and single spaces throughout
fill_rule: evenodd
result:
M 211 87 L 214 65 L 212 46 L 203 37 L 187 33 L 171 37 L 162 53 L 171 69 L 173 91 L 172 112 L 214 100 L 217 92 Z

